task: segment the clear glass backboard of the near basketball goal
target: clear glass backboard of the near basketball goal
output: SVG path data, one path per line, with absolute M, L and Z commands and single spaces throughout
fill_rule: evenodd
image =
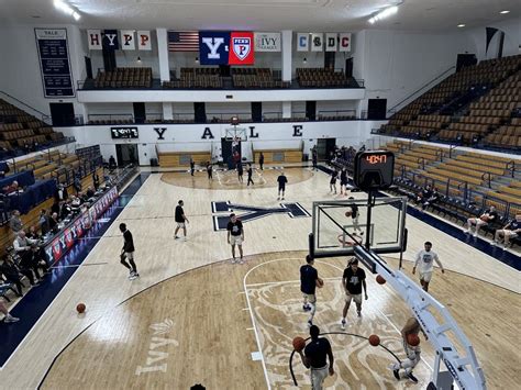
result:
M 353 208 L 358 215 L 353 219 Z M 406 198 L 376 198 L 372 208 L 370 248 L 399 253 L 406 241 Z M 367 199 L 313 202 L 310 250 L 313 257 L 350 256 L 354 246 L 366 244 Z

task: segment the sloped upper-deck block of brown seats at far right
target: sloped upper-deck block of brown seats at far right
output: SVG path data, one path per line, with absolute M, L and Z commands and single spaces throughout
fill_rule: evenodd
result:
M 483 138 L 485 144 L 496 145 L 507 141 L 506 147 L 518 147 L 519 137 L 512 129 L 502 129 L 494 137 L 487 134 L 499 131 L 521 109 L 520 69 L 521 55 L 466 67 L 392 115 L 381 126 L 380 133 L 430 140 L 437 137 L 472 145 L 477 145 Z M 494 88 L 485 88 L 485 94 L 455 111 L 454 115 L 440 114 L 445 112 L 447 104 L 457 101 L 475 86 Z

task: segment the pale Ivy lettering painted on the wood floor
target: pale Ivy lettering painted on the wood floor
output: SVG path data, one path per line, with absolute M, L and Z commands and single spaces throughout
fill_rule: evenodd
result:
M 173 338 L 166 338 L 166 335 L 170 333 L 174 327 L 174 321 L 166 319 L 157 324 L 152 324 L 151 330 L 153 331 L 151 343 L 148 345 L 148 355 L 146 356 L 146 364 L 144 366 L 137 366 L 135 375 L 140 376 L 147 372 L 166 372 L 168 348 L 170 345 L 179 346 L 179 343 Z

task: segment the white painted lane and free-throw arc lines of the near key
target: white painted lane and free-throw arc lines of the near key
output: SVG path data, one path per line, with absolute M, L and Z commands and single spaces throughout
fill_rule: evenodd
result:
M 277 258 L 277 259 L 273 259 L 273 260 L 268 260 L 268 261 L 265 261 L 265 263 L 260 263 L 260 264 L 257 264 L 256 266 L 254 266 L 253 268 L 251 268 L 246 275 L 244 276 L 244 279 L 243 279 L 243 287 L 244 287 L 244 294 L 246 296 L 246 302 L 247 302 L 247 310 L 250 311 L 250 317 L 252 319 L 252 324 L 253 324 L 253 331 L 255 332 L 255 339 L 257 342 L 257 347 L 258 347 L 258 350 L 260 353 L 260 361 L 263 364 L 263 369 L 264 369 L 264 376 L 265 376 L 265 379 L 266 379 L 266 385 L 268 387 L 268 389 L 270 390 L 271 389 L 271 385 L 269 383 L 269 375 L 268 375 L 268 371 L 267 371 L 267 368 L 266 368 L 266 360 L 264 358 L 264 353 L 263 353 L 263 349 L 260 347 L 260 341 L 258 338 L 258 331 L 257 331 L 257 325 L 255 323 L 255 319 L 254 319 L 254 314 L 253 314 L 253 310 L 252 310 L 252 305 L 251 305 L 251 302 L 250 302 L 250 296 L 248 296 L 248 292 L 247 292 L 247 287 L 255 287 L 255 286 L 277 286 L 277 285 L 285 285 L 285 283 L 293 283 L 293 282 L 297 282 L 297 281 L 300 281 L 300 280 L 286 280 L 286 281 L 274 281 L 274 282 L 263 282 L 263 283 L 252 283 L 252 285 L 246 285 L 246 279 L 248 277 L 248 275 L 254 270 L 254 269 L 257 269 L 266 264 L 270 264 L 270 263 L 276 263 L 276 261 L 282 261 L 282 260 L 301 260 L 301 258 L 296 258 L 296 257 L 287 257 L 287 258 Z M 320 261 L 320 260 L 315 260 L 315 263 L 319 263 L 319 264 L 323 264 L 323 265 L 328 265 L 330 267 L 333 267 L 337 270 L 340 270 L 341 272 L 343 272 L 344 270 L 342 268 L 340 268 L 339 266 L 334 265 L 334 264 L 330 264 L 330 263 L 326 263 L 326 261 Z M 337 280 L 337 279 L 341 279 L 341 278 L 328 278 L 328 280 Z M 384 312 L 379 309 L 379 308 L 376 308 L 376 310 L 380 313 L 380 316 L 383 316 L 395 330 L 396 332 L 401 336 L 401 332 L 398 330 L 398 327 L 392 323 L 392 321 L 389 320 L 389 317 L 384 314 Z M 431 372 L 433 372 L 433 369 L 431 367 L 431 365 L 425 360 L 425 358 L 423 356 L 421 356 L 421 360 L 425 364 L 426 367 L 429 367 L 429 369 L 431 370 Z

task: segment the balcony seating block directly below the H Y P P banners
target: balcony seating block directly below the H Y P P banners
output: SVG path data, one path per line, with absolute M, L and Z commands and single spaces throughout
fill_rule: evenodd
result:
M 93 82 L 95 88 L 151 88 L 152 68 L 115 68 L 100 70 Z

